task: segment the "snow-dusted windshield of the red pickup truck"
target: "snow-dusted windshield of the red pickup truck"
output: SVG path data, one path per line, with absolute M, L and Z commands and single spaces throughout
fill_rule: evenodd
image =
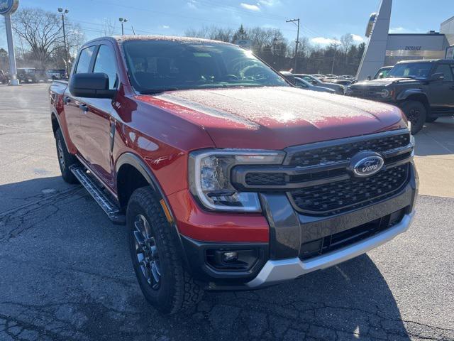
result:
M 145 93 L 215 87 L 289 86 L 243 48 L 199 40 L 126 40 L 131 83 Z

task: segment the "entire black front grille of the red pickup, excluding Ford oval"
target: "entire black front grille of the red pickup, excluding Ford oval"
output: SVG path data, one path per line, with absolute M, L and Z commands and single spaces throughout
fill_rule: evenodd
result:
M 240 191 L 285 193 L 294 210 L 328 216 L 385 200 L 408 183 L 413 141 L 408 130 L 289 147 L 282 165 L 233 168 L 231 181 Z M 358 178 L 351 159 L 362 151 L 379 153 L 384 168 Z

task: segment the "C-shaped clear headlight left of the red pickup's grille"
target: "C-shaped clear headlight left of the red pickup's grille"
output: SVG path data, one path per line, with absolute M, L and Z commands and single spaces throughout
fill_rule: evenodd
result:
M 282 151 L 211 150 L 189 154 L 189 189 L 210 210 L 260 212 L 257 193 L 238 192 L 231 185 L 233 166 L 280 164 Z

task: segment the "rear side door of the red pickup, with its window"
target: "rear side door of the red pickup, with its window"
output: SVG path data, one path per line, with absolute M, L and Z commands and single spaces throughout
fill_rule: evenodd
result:
M 79 53 L 79 59 L 77 60 L 77 66 L 73 73 L 84 73 L 89 72 L 90 65 L 92 65 L 92 59 L 94 55 L 96 45 L 84 48 Z M 81 107 L 83 107 L 84 99 L 72 96 L 70 87 L 66 87 L 65 94 L 63 96 L 63 103 L 65 104 L 65 119 L 67 129 L 70 134 L 72 144 L 77 148 L 79 154 L 84 153 L 84 139 L 82 138 L 81 131 Z

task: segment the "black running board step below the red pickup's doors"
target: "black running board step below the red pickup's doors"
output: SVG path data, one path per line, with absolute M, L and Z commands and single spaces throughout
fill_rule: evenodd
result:
M 79 180 L 82 186 L 87 190 L 90 195 L 92 195 L 93 199 L 101 206 L 102 210 L 106 212 L 107 217 L 113 222 L 114 224 L 124 225 L 126 224 L 126 217 L 121 213 L 120 208 L 114 200 L 109 197 L 106 193 L 104 193 L 103 187 L 99 185 L 92 177 L 87 173 L 85 168 L 80 166 L 70 166 L 70 170 L 74 174 L 74 176 Z

